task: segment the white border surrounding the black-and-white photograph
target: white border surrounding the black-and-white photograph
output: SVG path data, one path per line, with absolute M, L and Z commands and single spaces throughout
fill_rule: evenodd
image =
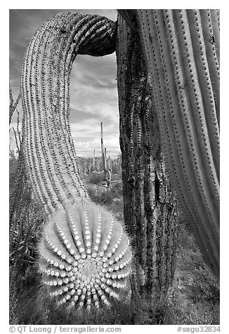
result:
M 49 9 L 79 8 L 83 2 L 83 8 L 220 8 L 221 9 L 221 178 L 223 186 L 221 187 L 221 333 L 228 333 L 226 329 L 228 323 L 228 154 L 229 154 L 229 106 L 228 106 L 228 44 L 229 44 L 229 6 L 227 1 L 158 1 L 153 4 L 150 1 L 140 1 L 139 3 L 116 1 L 115 4 L 108 1 L 4 1 L 1 5 L 1 316 L 2 333 L 8 333 L 8 10 L 14 8 L 20 9 Z M 155 1 L 156 2 L 156 1 Z M 109 6 L 110 4 L 110 6 Z M 39 8 L 37 6 L 39 5 Z M 159 7 L 157 7 L 159 5 Z M 65 6 L 66 7 L 66 6 Z M 63 8 L 64 9 L 64 8 Z M 4 326 L 5 327 L 5 326 Z M 70 327 L 70 326 L 68 326 Z M 122 326 L 122 333 L 138 333 L 139 326 Z M 187 326 L 188 327 L 188 326 Z M 176 333 L 177 326 L 144 326 L 145 333 Z

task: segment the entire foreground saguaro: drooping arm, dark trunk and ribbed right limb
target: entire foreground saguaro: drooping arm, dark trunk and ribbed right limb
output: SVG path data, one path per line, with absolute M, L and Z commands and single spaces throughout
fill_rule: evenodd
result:
M 162 286 L 165 286 L 166 291 L 166 282 L 171 282 L 174 273 L 176 219 L 173 217 L 174 196 L 164 179 L 161 152 L 183 212 L 197 236 L 199 247 L 218 274 L 218 11 L 119 12 L 139 37 L 131 50 L 128 46 L 129 32 L 126 32 L 124 25 L 119 29 L 117 79 L 123 175 L 126 178 L 124 194 L 130 192 L 133 195 L 131 203 L 126 200 L 126 196 L 125 218 L 127 221 L 129 213 L 133 218 L 134 210 L 139 218 L 139 222 L 133 220 L 128 224 L 129 232 L 141 238 L 133 240 L 134 248 L 139 250 L 135 262 L 136 266 L 139 265 L 136 270 L 136 274 L 140 273 L 138 283 L 142 290 L 150 291 L 152 283 L 155 283 L 157 291 L 162 291 Z M 39 199 L 47 217 L 44 239 L 40 245 L 41 271 L 58 302 L 69 300 L 82 306 L 86 300 L 87 307 L 91 305 L 92 295 L 101 295 L 101 300 L 104 301 L 111 295 L 108 283 L 110 277 L 103 276 L 110 275 L 109 268 L 116 272 L 113 274 L 113 281 L 110 279 L 112 288 L 117 288 L 117 284 L 118 288 L 124 286 L 125 277 L 122 274 L 129 272 L 131 250 L 126 236 L 118 244 L 118 232 L 108 232 L 108 227 L 111 229 L 111 226 L 115 226 L 119 232 L 122 232 L 122 227 L 118 222 L 112 225 L 113 218 L 108 213 L 100 215 L 100 208 L 89 205 L 88 195 L 81 182 L 69 125 L 70 69 L 77 54 L 98 56 L 114 52 L 115 38 L 116 25 L 107 18 L 61 13 L 44 22 L 35 32 L 22 65 L 22 156 L 26 159 L 34 195 Z M 142 58 L 138 53 L 140 49 L 143 50 L 145 65 L 150 74 L 152 94 L 143 73 Z M 125 61 L 126 56 L 129 57 L 129 63 Z M 122 86 L 124 90 L 120 93 Z M 124 101 L 126 97 L 129 98 L 128 101 Z M 128 114 L 125 114 L 126 107 L 131 108 Z M 157 135 L 152 132 L 152 129 L 157 130 L 153 128 L 155 110 L 162 151 Z M 129 143 L 126 135 L 130 139 Z M 157 152 L 158 164 L 153 163 L 152 152 Z M 133 208 L 133 203 L 136 208 Z M 168 212 L 169 215 L 165 218 Z M 107 225 L 103 217 L 108 221 Z M 100 219 L 103 222 L 101 228 Z M 108 253 L 110 248 L 107 244 L 106 253 L 103 254 L 107 258 L 103 256 L 106 259 L 103 265 L 98 253 L 95 257 L 92 256 L 90 247 L 94 243 L 87 246 L 90 243 L 87 241 L 88 236 L 93 236 L 96 232 L 102 238 L 99 250 L 100 246 L 105 246 L 103 238 L 110 246 L 114 243 L 115 250 L 111 253 Z M 160 240 L 164 240 L 163 243 Z M 84 245 L 82 252 L 79 242 Z M 115 247 L 116 244 L 118 248 Z M 116 261 L 114 257 L 110 264 L 108 254 L 111 254 L 110 262 L 115 255 L 117 259 L 119 255 L 126 256 L 126 260 L 119 258 Z M 66 261 L 70 264 L 69 267 L 66 267 Z M 76 262 L 75 265 L 73 261 Z M 114 262 L 117 262 L 116 269 Z M 67 275 L 64 283 L 62 279 L 60 283 L 58 279 L 52 278 L 61 274 Z M 82 286 L 81 277 L 86 277 L 88 286 Z M 69 283 L 71 279 L 73 281 Z M 94 283 L 95 279 L 98 282 Z M 117 279 L 121 281 L 117 282 Z M 60 288 L 57 289 L 57 286 Z M 81 290 L 81 298 L 77 298 L 79 295 L 75 292 L 76 288 Z M 63 298 L 60 298 L 60 291 L 65 295 Z M 117 292 L 114 291 L 114 295 L 115 293 Z M 108 302 L 109 300 L 105 304 Z M 94 305 L 98 304 L 95 302 Z

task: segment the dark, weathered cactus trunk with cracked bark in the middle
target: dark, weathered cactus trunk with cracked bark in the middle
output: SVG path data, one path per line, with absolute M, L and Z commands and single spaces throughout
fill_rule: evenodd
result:
M 158 305 L 174 279 L 178 212 L 138 36 L 120 16 L 117 78 L 124 218 L 136 254 L 132 283 L 140 298 L 147 293 Z

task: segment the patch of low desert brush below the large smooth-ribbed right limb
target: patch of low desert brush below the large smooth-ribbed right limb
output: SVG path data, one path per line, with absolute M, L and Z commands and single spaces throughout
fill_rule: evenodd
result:
M 166 324 L 219 324 L 219 279 L 202 258 L 188 226 L 181 224 L 174 284 L 164 309 Z

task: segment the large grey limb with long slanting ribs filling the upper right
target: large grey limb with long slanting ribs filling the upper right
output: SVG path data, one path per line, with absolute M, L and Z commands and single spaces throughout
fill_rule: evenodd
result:
M 199 248 L 219 272 L 219 11 L 120 10 L 138 32 L 162 150 Z

